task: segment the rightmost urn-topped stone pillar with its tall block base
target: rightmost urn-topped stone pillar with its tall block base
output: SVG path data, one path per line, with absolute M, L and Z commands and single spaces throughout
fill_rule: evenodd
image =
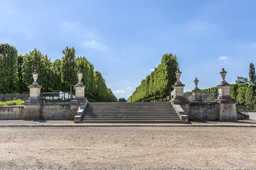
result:
M 236 110 L 237 102 L 230 96 L 230 84 L 225 81 L 227 72 L 223 68 L 220 72 L 223 81 L 218 85 L 218 98 L 216 100 L 220 105 L 220 121 L 238 121 Z

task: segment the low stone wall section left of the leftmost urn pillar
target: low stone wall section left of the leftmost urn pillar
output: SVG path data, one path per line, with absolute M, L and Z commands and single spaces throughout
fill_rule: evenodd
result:
M 16 120 L 21 116 L 24 106 L 0 106 L 0 120 Z

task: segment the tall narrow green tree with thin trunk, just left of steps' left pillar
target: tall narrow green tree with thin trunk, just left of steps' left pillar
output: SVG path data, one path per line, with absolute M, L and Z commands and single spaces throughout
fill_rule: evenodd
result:
M 62 64 L 61 64 L 61 79 L 63 83 L 70 86 L 70 92 L 72 92 L 72 86 L 78 82 L 76 73 L 78 72 L 75 63 L 75 49 L 74 47 L 66 47 L 63 50 Z

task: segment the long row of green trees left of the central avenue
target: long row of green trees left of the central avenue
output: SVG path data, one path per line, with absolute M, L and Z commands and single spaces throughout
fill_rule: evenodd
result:
M 78 69 L 83 72 L 85 96 L 95 101 L 117 101 L 107 88 L 102 74 L 94 70 L 85 57 L 75 57 L 74 47 L 66 47 L 63 57 L 51 62 L 36 48 L 26 55 L 18 55 L 14 46 L 0 44 L 0 94 L 26 94 L 32 84 L 31 73 L 36 69 L 38 84 L 43 92 L 70 91 L 78 82 Z

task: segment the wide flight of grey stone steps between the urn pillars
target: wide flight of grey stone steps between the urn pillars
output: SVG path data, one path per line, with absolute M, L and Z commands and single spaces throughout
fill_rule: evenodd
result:
M 181 123 L 169 102 L 88 103 L 82 123 Z

